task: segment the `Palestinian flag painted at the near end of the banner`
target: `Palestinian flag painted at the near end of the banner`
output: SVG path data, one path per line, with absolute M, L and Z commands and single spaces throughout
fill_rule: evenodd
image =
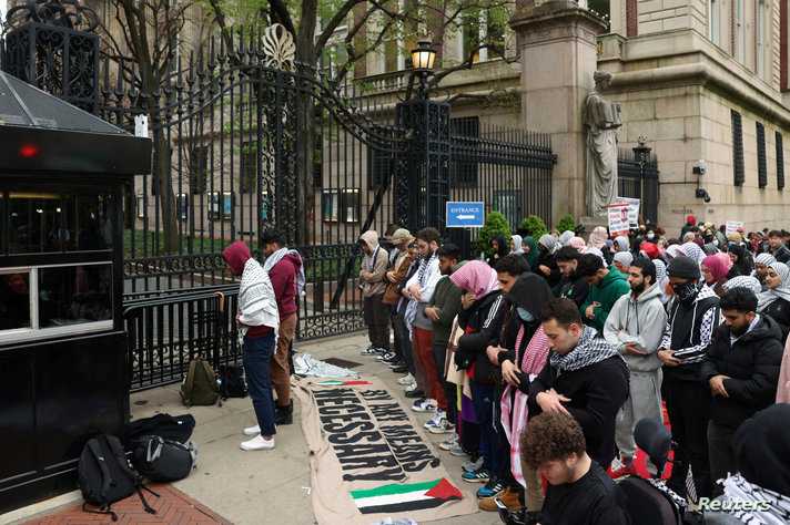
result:
M 366 491 L 351 491 L 363 514 L 394 513 L 435 508 L 464 496 L 444 477 L 432 482 L 389 484 Z

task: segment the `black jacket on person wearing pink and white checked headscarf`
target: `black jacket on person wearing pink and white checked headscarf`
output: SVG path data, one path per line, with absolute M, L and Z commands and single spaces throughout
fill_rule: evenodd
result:
M 498 343 L 504 318 L 505 300 L 499 290 L 476 300 L 468 310 L 458 311 L 458 326 L 465 333 L 458 339 L 455 363 L 460 369 L 474 364 L 476 381 L 493 381 L 494 366 L 486 356 L 486 348 Z

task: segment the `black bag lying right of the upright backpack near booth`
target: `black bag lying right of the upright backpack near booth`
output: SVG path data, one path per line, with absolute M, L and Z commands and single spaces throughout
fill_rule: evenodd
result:
M 135 441 L 132 463 L 140 474 L 151 481 L 178 481 L 186 477 L 198 465 L 198 446 L 146 435 Z

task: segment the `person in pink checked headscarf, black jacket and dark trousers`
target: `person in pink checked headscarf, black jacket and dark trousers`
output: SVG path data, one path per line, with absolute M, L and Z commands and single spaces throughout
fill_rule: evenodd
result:
M 465 473 L 463 477 L 469 482 L 487 481 L 499 473 L 504 461 L 504 451 L 493 425 L 490 400 L 495 399 L 494 364 L 486 354 L 490 342 L 499 339 L 505 317 L 503 296 L 496 271 L 479 260 L 467 262 L 455 270 L 449 279 L 462 290 L 467 290 L 458 312 L 458 327 L 464 334 L 458 339 L 455 364 L 459 370 L 465 370 L 469 378 L 475 418 L 480 425 L 479 444 L 483 452 L 483 466 Z

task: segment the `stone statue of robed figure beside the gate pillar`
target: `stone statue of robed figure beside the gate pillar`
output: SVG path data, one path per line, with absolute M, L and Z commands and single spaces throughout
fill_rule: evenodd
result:
M 607 213 L 617 196 L 617 128 L 622 125 L 620 104 L 601 94 L 611 83 L 611 73 L 596 71 L 595 90 L 585 99 L 583 122 L 586 127 L 587 209 L 590 216 Z

